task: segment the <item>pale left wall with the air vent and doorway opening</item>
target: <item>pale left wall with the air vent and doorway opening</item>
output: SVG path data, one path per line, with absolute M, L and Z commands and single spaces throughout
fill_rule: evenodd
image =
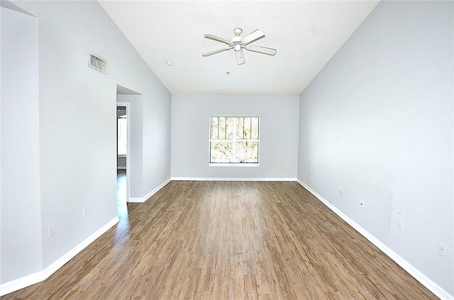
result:
M 143 95 L 147 162 L 142 165 L 158 167 L 143 170 L 142 190 L 153 190 L 170 178 L 171 97 L 96 1 L 15 4 L 39 22 L 41 202 L 33 213 L 41 215 L 46 268 L 116 218 L 117 84 Z M 88 67 L 89 52 L 109 62 L 108 74 Z M 3 171 L 3 163 L 1 167 Z M 82 207 L 88 208 L 85 218 Z M 3 232 L 17 224 L 2 223 Z M 50 224 L 55 224 L 55 236 L 48 238 Z M 2 247 L 5 256 L 5 247 L 15 246 Z M 2 273 L 1 279 L 26 275 Z

